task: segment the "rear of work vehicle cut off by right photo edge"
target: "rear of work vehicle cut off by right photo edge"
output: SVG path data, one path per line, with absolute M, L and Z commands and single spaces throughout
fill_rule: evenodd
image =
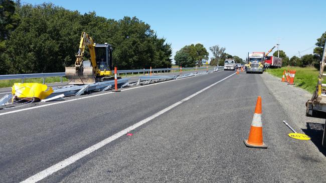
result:
M 322 84 L 323 76 L 326 75 L 324 73 L 326 62 L 326 41 L 324 44 L 322 59 L 320 63 L 319 76 L 317 81 L 317 86 L 315 92 L 313 92 L 311 99 L 309 99 L 306 103 L 306 112 L 305 115 L 309 117 L 318 117 L 318 118 L 326 118 L 326 84 Z M 323 136 L 321 140 L 321 144 L 326 147 L 326 122 L 325 127 L 323 129 Z

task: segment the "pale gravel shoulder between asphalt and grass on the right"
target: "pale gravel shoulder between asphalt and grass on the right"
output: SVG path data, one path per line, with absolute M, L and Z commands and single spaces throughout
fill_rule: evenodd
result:
M 287 122 L 298 133 L 309 135 L 315 144 L 312 148 L 318 148 L 320 152 L 326 155 L 326 148 L 321 146 L 325 119 L 305 116 L 305 102 L 311 98 L 312 94 L 302 88 L 287 85 L 281 82 L 280 78 L 270 73 L 264 72 L 261 77 L 269 91 L 273 93 L 287 113 Z

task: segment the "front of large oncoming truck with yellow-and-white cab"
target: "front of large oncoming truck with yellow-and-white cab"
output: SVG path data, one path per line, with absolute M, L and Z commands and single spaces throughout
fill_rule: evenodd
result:
M 263 73 L 265 62 L 265 52 L 252 52 L 248 54 L 248 63 L 246 64 L 246 73 Z

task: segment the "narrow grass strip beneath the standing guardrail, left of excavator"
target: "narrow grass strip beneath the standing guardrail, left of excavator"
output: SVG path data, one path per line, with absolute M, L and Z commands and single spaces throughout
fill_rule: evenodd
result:
M 66 77 L 62 77 L 62 81 L 68 81 Z M 0 80 L 0 87 L 11 87 L 15 82 L 22 82 L 22 79 Z M 28 78 L 24 82 L 38 82 L 43 83 L 42 78 Z M 45 83 L 60 82 L 60 77 L 46 77 Z

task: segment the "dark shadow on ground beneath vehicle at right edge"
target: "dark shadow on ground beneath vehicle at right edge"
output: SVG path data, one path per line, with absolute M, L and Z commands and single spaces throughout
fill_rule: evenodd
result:
M 321 123 L 313 123 L 313 122 L 307 122 L 307 129 L 302 129 L 302 131 L 311 137 L 311 141 L 316 145 L 318 150 L 326 156 L 326 147 L 323 147 L 321 145 L 322 135 L 323 135 L 323 129 L 325 127 L 325 124 Z

